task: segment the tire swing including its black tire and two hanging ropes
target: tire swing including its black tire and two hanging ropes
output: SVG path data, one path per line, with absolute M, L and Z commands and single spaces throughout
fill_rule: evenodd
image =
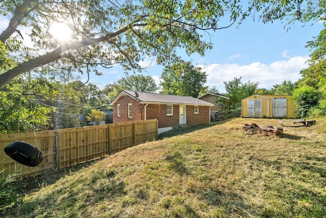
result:
M 21 110 L 22 83 L 23 83 L 23 79 L 21 76 L 21 94 L 20 94 L 19 113 L 18 113 L 17 140 L 19 136 L 19 119 L 20 119 L 20 110 Z M 30 81 L 29 81 L 29 88 L 30 88 Z M 30 94 L 31 94 L 31 90 L 30 90 Z M 31 108 L 33 112 L 32 100 L 30 100 L 30 102 L 31 102 Z M 33 130 L 34 130 L 36 147 L 26 142 L 15 141 L 8 144 L 4 148 L 4 151 L 8 156 L 10 156 L 15 161 L 21 163 L 22 165 L 29 166 L 29 167 L 36 167 L 43 160 L 43 153 L 37 148 L 34 116 L 33 116 L 33 127 L 34 127 Z

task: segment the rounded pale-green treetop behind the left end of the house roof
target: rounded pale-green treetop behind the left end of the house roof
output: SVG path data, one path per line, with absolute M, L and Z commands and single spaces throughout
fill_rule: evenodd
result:
M 158 86 L 151 76 L 143 74 L 134 74 L 123 77 L 113 84 L 104 87 L 103 93 L 108 96 L 109 100 L 115 98 L 122 90 L 138 91 L 138 92 L 157 92 Z

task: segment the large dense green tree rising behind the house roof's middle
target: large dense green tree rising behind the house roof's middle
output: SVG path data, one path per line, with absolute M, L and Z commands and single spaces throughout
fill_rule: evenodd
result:
M 206 72 L 200 67 L 193 66 L 190 62 L 176 63 L 166 66 L 161 75 L 161 93 L 169 95 L 192 96 L 207 92 L 208 87 Z

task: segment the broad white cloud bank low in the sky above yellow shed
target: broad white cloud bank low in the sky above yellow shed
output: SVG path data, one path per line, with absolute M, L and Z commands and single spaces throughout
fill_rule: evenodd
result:
M 242 77 L 242 83 L 258 82 L 258 88 L 270 89 L 273 85 L 281 84 L 284 80 L 297 81 L 300 71 L 307 68 L 309 57 L 292 57 L 286 61 L 276 61 L 270 64 L 254 62 L 250 65 L 212 64 L 199 65 L 206 72 L 209 87 L 215 86 L 221 93 L 225 92 L 223 81 L 231 81 L 234 77 Z

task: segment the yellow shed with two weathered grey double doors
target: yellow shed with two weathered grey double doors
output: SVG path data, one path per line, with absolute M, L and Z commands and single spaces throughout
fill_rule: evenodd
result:
M 290 95 L 252 95 L 241 100 L 241 117 L 294 118 Z

